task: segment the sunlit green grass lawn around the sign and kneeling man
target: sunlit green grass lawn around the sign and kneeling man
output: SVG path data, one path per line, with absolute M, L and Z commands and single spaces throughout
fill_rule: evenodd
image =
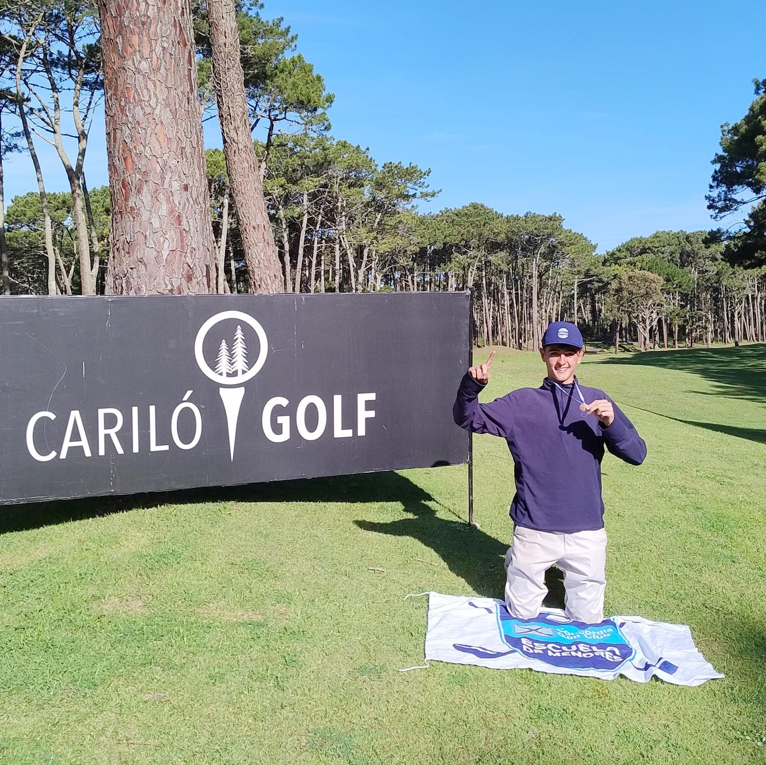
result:
M 542 376 L 500 350 L 486 397 Z M 512 462 L 481 436 L 480 530 L 465 467 L 2 508 L 0 762 L 766 761 L 766 347 L 581 379 L 649 446 L 604 459 L 607 613 L 690 625 L 724 680 L 398 671 L 427 611 L 404 595 L 502 596 Z

